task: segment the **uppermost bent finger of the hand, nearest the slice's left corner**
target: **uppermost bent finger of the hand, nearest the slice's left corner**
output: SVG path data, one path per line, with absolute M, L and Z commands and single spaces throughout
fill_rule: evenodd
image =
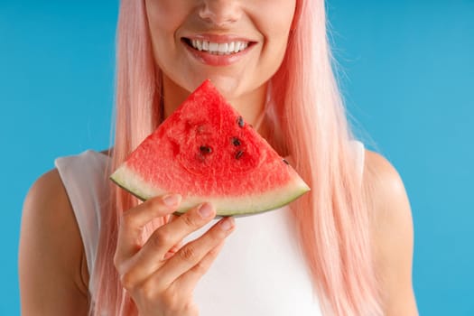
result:
M 134 209 L 125 211 L 118 228 L 117 251 L 114 257 L 116 266 L 120 265 L 126 258 L 134 256 L 140 249 L 144 226 L 153 218 L 170 215 L 177 209 L 180 202 L 180 195 L 167 195 L 146 200 Z

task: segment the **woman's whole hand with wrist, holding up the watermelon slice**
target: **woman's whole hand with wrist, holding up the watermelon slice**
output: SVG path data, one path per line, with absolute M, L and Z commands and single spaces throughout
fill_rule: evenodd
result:
M 204 203 L 157 228 L 141 245 L 144 226 L 170 215 L 180 202 L 179 195 L 154 198 L 121 218 L 114 264 L 141 316 L 198 315 L 194 288 L 234 229 L 234 219 L 223 218 L 198 239 L 177 247 L 183 237 L 215 217 L 215 209 Z

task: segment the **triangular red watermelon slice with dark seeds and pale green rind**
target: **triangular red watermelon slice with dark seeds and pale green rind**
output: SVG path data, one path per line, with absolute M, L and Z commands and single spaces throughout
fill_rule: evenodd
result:
M 110 178 L 141 200 L 180 193 L 179 213 L 209 201 L 218 216 L 278 209 L 310 190 L 209 80 Z

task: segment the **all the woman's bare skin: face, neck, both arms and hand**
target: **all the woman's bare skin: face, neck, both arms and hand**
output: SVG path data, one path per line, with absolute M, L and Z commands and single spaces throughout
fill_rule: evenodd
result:
M 265 81 L 283 58 L 294 3 L 147 0 L 153 51 L 163 69 L 165 114 L 172 113 L 189 91 L 210 78 L 248 122 L 255 122 L 264 107 Z M 237 34 L 254 44 L 240 62 L 211 67 L 190 58 L 181 42 L 183 36 L 209 33 Z M 411 278 L 413 227 L 403 182 L 383 157 L 367 152 L 364 188 L 371 202 L 376 273 L 382 282 L 386 315 L 416 315 Z M 158 228 L 142 244 L 141 228 L 154 217 L 171 214 L 179 200 L 167 204 L 158 197 L 125 211 L 121 218 L 114 264 L 140 315 L 197 315 L 193 289 L 234 229 L 233 219 L 226 218 L 196 241 L 181 246 L 183 237 L 213 218 L 214 209 L 207 205 L 208 216 L 193 209 Z M 33 184 L 24 202 L 19 272 L 23 315 L 87 314 L 84 248 L 55 170 Z

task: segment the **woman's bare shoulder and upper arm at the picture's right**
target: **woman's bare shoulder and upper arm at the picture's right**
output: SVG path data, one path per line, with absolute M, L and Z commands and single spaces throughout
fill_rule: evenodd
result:
M 363 186 L 385 314 L 417 315 L 412 284 L 414 228 L 404 182 L 385 157 L 366 151 Z

